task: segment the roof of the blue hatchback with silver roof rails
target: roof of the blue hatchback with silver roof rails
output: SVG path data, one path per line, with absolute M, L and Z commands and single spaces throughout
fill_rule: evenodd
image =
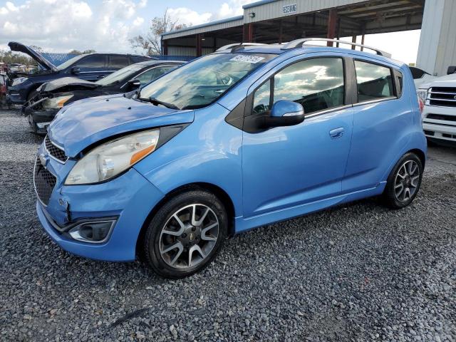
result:
M 385 56 L 380 56 L 375 53 L 351 50 L 350 48 L 336 48 L 331 46 L 316 46 L 316 45 L 305 45 L 299 48 L 284 48 L 286 44 L 265 44 L 265 45 L 254 45 L 254 46 L 240 46 L 239 48 L 232 51 L 230 48 L 227 50 L 217 51 L 216 53 L 271 53 L 276 55 L 284 55 L 285 53 L 293 53 L 294 55 L 301 52 L 304 53 L 318 53 L 318 52 L 334 52 L 334 53 L 349 53 L 352 55 L 364 57 L 364 58 L 373 58 L 378 61 L 384 61 L 388 63 L 393 63 L 398 68 L 404 66 L 405 64 L 400 61 L 395 61 L 393 58 L 388 58 Z

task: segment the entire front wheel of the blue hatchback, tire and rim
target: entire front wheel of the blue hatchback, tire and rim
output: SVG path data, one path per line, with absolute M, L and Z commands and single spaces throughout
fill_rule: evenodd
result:
M 181 193 L 166 202 L 147 227 L 145 259 L 157 274 L 166 278 L 195 274 L 214 259 L 227 226 L 224 205 L 212 193 Z

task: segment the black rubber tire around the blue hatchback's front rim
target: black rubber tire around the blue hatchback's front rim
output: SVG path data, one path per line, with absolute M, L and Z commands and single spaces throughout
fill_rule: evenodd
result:
M 172 245 L 177 242 L 177 239 L 182 239 L 182 237 L 186 234 L 182 234 L 179 237 L 171 237 L 170 234 L 166 233 L 163 233 L 162 235 L 162 232 L 165 230 L 165 226 L 169 224 L 168 222 L 174 219 L 173 215 L 175 213 L 180 212 L 180 210 L 185 210 L 187 207 L 192 207 L 195 205 L 201 205 L 202 208 L 209 208 L 212 211 L 210 212 L 210 215 L 212 215 L 212 217 L 217 217 L 217 241 L 214 241 L 214 243 L 211 242 L 212 249 L 207 253 L 207 255 L 205 255 L 204 258 L 201 258 L 202 256 L 200 255 L 201 260 L 199 260 L 195 266 L 192 266 L 191 262 L 189 263 L 190 265 L 187 266 L 185 266 L 185 264 L 183 266 L 182 264 L 180 266 L 171 266 L 170 260 L 165 261 L 165 257 L 167 256 L 165 255 L 165 257 L 162 257 L 162 253 L 160 253 L 160 247 L 162 249 L 164 247 L 167 247 L 162 243 L 163 239 L 175 239 L 173 242 L 170 242 L 170 245 Z M 199 218 L 201 217 L 202 215 L 199 216 Z M 183 220 L 181 222 L 183 222 Z M 192 224 L 190 224 L 190 226 L 193 227 Z M 203 224 L 201 224 L 201 226 L 203 226 Z M 190 276 L 204 269 L 204 267 L 206 267 L 214 259 L 227 234 L 227 227 L 228 217 L 224 205 L 211 192 L 207 192 L 206 190 L 189 190 L 187 192 L 180 193 L 179 195 L 172 197 L 162 207 L 160 207 L 155 216 L 152 218 L 152 221 L 147 227 L 144 239 L 142 241 L 142 257 L 145 259 L 145 261 L 147 261 L 147 264 L 152 268 L 153 271 L 155 271 L 155 273 L 165 278 L 180 279 L 184 278 L 185 276 Z M 169 232 L 170 229 L 167 229 L 167 231 Z M 202 227 L 199 227 L 198 232 L 202 232 Z M 209 242 L 202 241 L 203 234 L 204 232 L 202 232 L 201 236 L 197 236 L 199 243 L 209 244 Z M 189 236 L 193 236 L 193 234 L 189 234 Z M 199 237 L 201 237 L 201 239 L 199 239 Z M 178 263 L 183 263 L 185 257 L 187 256 L 188 258 L 190 254 L 190 249 L 192 249 L 192 247 L 189 248 L 189 246 L 193 246 L 192 244 L 195 243 L 195 240 L 193 240 L 193 237 L 189 239 L 192 239 L 192 242 L 188 242 L 188 244 L 182 242 L 182 247 L 185 247 L 184 252 L 180 252 L 180 249 L 177 249 L 177 251 L 172 250 L 172 252 L 170 252 L 176 252 L 176 255 L 178 252 L 180 252 L 179 255 L 182 257 L 179 257 L 180 259 L 177 260 Z M 212 237 L 212 239 L 214 238 Z M 195 252 L 193 252 L 193 254 L 194 253 Z

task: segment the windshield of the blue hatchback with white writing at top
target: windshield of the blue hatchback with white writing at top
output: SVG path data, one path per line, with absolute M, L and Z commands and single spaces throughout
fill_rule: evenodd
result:
M 167 73 L 142 88 L 138 98 L 179 109 L 202 108 L 276 55 L 215 53 Z

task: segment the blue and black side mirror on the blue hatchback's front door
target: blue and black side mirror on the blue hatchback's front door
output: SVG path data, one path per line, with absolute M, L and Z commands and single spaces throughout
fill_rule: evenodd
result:
M 272 105 L 271 115 L 264 117 L 264 128 L 298 125 L 304 121 L 304 108 L 301 104 L 279 100 Z

